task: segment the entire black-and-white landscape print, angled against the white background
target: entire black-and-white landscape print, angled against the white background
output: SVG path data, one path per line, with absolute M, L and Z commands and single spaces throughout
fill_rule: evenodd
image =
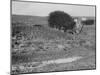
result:
M 96 69 L 96 6 L 11 1 L 11 74 Z

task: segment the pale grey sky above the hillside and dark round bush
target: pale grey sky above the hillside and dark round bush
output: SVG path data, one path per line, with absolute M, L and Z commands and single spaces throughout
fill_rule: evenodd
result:
M 48 16 L 56 10 L 64 11 L 71 16 L 95 16 L 94 6 L 12 1 L 12 14 L 16 15 Z

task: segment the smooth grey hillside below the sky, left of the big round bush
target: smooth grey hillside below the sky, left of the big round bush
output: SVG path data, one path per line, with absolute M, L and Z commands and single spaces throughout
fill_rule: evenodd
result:
M 47 17 L 27 16 L 27 15 L 12 15 L 12 22 L 21 22 L 28 25 L 42 24 L 47 25 Z

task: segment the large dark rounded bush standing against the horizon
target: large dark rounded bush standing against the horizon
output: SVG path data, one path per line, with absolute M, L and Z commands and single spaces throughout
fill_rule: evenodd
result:
M 65 31 L 68 29 L 73 29 L 75 26 L 73 18 L 63 11 L 51 12 L 49 14 L 48 23 L 52 28 L 57 28 L 59 30 L 63 29 Z

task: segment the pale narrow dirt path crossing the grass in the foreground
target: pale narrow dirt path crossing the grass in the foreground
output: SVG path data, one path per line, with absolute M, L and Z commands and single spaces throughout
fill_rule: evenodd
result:
M 44 66 L 49 65 L 49 64 L 70 63 L 70 62 L 74 62 L 74 61 L 77 61 L 77 60 L 82 59 L 82 58 L 83 57 L 81 57 L 81 56 L 73 56 L 73 57 L 69 57 L 69 58 L 60 58 L 60 59 L 48 60 L 48 61 L 42 61 L 42 62 L 32 62 L 32 63 L 28 63 L 27 66 L 24 66 L 22 64 L 13 65 L 12 70 L 16 70 L 18 66 L 19 66 L 20 70 L 25 70 L 25 68 L 35 69 L 35 68 L 44 67 Z M 37 66 L 34 66 L 34 65 L 37 65 Z

